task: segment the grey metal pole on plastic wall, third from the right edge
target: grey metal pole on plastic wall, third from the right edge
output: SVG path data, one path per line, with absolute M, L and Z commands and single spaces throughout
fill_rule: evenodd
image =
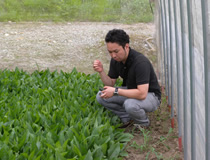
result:
M 184 13 L 183 13 L 183 0 L 179 0 L 180 4 L 180 17 L 181 17 L 181 30 L 182 30 L 182 64 L 183 64 L 183 109 L 184 109 L 184 159 L 188 159 L 187 157 L 187 84 L 186 84 L 186 41 L 185 41 L 185 30 L 184 30 Z

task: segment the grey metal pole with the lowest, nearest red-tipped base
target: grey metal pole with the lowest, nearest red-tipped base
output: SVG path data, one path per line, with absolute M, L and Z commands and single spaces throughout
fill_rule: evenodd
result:
M 177 66 L 177 108 L 178 108 L 178 130 L 179 130 L 179 151 L 182 151 L 182 127 L 181 127 L 181 97 L 180 97 L 180 82 L 181 82 L 181 77 L 180 77 L 180 56 L 179 56 L 179 42 L 178 42 L 178 30 L 177 30 L 177 8 L 176 8 L 176 1 L 173 0 L 174 2 L 174 27 L 175 27 L 175 38 L 176 38 L 176 66 Z

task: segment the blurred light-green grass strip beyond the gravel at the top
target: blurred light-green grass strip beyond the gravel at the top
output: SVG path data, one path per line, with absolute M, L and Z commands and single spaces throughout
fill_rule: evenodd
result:
M 150 22 L 149 0 L 1 0 L 0 21 Z

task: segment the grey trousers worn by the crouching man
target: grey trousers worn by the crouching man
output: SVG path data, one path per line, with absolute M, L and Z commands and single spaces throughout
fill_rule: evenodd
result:
M 146 112 L 153 112 L 160 106 L 160 100 L 153 92 L 148 92 L 146 99 L 138 100 L 124 96 L 113 96 L 108 99 L 96 95 L 97 101 L 108 110 L 116 114 L 123 123 L 134 120 L 135 123 L 148 126 L 150 121 Z

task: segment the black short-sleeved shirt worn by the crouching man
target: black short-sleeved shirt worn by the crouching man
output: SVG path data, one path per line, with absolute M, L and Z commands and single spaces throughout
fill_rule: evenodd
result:
M 149 92 L 154 92 L 158 99 L 161 99 L 160 86 L 152 64 L 143 54 L 131 48 L 125 64 L 111 59 L 108 76 L 112 79 L 120 76 L 123 78 L 123 86 L 128 89 L 149 84 Z

